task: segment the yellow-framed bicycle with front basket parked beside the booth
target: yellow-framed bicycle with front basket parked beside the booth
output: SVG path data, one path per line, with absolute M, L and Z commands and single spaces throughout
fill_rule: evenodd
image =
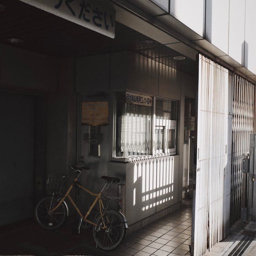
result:
M 69 189 L 63 196 L 61 190 L 64 187 L 65 176 L 61 176 L 59 179 L 60 191 L 53 193 L 52 196 L 43 197 L 35 206 L 35 220 L 39 226 L 46 230 L 55 230 L 59 228 L 69 215 L 69 208 L 65 199 L 68 197 L 71 204 L 74 206 L 78 214 L 80 215 L 80 221 L 78 223 L 78 233 L 80 233 L 80 227 L 82 223 L 89 223 L 93 225 L 93 238 L 96 243 L 96 247 L 100 247 L 103 250 L 111 250 L 116 248 L 124 238 L 126 229 L 128 229 L 127 220 L 120 211 L 109 210 L 108 205 L 104 207 L 103 200 L 121 200 L 119 197 L 102 196 L 102 192 L 108 189 L 112 183 L 119 183 L 120 179 L 115 177 L 102 176 L 101 178 L 106 181 L 98 194 L 91 192 L 89 189 L 83 187 L 78 178 L 82 173 L 82 168 L 78 168 L 74 165 L 69 167 L 77 174 L 76 178 L 70 185 Z M 49 179 L 48 179 L 49 183 Z M 76 206 L 74 200 L 70 197 L 70 191 L 75 187 L 76 189 L 83 189 L 85 192 L 92 196 L 95 196 L 95 200 L 87 213 L 83 216 L 80 209 Z M 95 204 L 99 203 L 99 213 L 94 217 L 93 221 L 88 218 L 91 210 Z M 59 210 L 58 210 L 59 209 Z

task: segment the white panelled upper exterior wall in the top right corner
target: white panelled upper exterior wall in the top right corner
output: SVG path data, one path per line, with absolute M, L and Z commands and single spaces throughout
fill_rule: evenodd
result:
M 139 0 L 133 2 L 137 4 Z M 256 80 L 256 0 L 145 0 L 143 3 L 149 2 L 162 9 L 158 20 Z M 167 2 L 169 13 L 165 14 Z M 158 37 L 157 41 L 160 40 Z

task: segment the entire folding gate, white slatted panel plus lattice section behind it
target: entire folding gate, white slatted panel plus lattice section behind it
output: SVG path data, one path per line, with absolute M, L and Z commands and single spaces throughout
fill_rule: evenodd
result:
M 192 249 L 202 255 L 240 218 L 242 160 L 253 133 L 254 85 L 199 55 Z

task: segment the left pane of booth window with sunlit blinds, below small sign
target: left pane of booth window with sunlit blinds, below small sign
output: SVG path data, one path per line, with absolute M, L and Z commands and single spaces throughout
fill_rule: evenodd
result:
M 151 154 L 152 107 L 126 103 L 117 93 L 116 156 Z

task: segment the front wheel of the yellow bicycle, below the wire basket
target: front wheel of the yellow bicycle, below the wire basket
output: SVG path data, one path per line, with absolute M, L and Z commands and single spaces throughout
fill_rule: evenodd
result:
M 34 213 L 35 221 L 41 228 L 55 230 L 65 222 L 67 218 L 67 208 L 63 202 L 56 211 L 48 214 L 50 208 L 53 209 L 57 204 L 58 198 L 52 196 L 43 197 L 37 202 Z

